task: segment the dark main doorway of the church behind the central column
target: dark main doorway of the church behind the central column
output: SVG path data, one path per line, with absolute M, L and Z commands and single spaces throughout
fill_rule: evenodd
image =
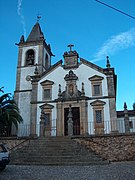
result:
M 68 113 L 69 108 L 64 108 L 64 135 L 68 135 Z M 80 135 L 80 108 L 72 107 L 73 135 Z

